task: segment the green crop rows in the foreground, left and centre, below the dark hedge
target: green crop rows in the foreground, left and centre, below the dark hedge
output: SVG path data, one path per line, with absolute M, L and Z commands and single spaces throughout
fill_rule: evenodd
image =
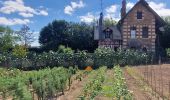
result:
M 111 71 L 114 73 L 114 78 L 111 79 L 110 87 L 106 87 L 104 84 L 107 82 L 107 67 L 92 71 L 77 70 L 72 67 L 28 72 L 18 69 L 0 69 L 0 98 L 2 100 L 53 100 L 64 95 L 73 81 L 83 81 L 84 77 L 88 77 L 77 98 L 89 100 L 102 95 L 107 98 L 131 100 L 132 95 L 127 89 L 120 67 L 115 66 Z

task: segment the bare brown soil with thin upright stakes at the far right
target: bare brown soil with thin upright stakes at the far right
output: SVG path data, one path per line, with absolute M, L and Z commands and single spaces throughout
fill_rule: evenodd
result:
M 146 82 L 165 99 L 170 99 L 170 65 L 137 66 Z

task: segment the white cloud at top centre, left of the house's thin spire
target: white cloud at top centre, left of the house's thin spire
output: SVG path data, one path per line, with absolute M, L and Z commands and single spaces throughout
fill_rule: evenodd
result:
M 85 7 L 85 4 L 82 0 L 80 0 L 79 2 L 71 2 L 70 5 L 67 5 L 65 8 L 64 8 L 64 13 L 65 14 L 68 14 L 68 15 L 72 15 L 73 12 L 78 9 L 78 8 L 83 8 Z

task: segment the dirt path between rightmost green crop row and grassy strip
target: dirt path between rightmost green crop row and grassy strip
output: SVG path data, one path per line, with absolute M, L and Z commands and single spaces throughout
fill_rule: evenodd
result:
M 150 100 L 147 98 L 147 96 L 144 95 L 144 93 L 139 89 L 139 86 L 134 78 L 132 78 L 126 70 L 124 70 L 124 76 L 126 79 L 126 83 L 128 86 L 128 89 L 130 91 L 133 91 L 133 97 L 135 100 Z

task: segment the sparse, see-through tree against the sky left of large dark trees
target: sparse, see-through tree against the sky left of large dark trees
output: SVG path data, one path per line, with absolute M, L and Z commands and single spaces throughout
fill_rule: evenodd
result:
M 21 42 L 26 47 L 28 47 L 34 41 L 33 32 L 30 32 L 30 28 L 27 25 L 23 25 L 21 30 L 18 31 L 17 34 L 21 38 Z

